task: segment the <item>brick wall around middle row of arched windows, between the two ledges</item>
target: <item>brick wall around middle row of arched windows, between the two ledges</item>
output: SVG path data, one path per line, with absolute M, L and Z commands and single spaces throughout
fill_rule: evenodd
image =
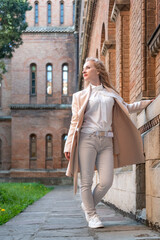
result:
M 53 65 L 53 96 L 61 103 L 62 64 L 69 65 L 69 95 L 75 91 L 75 38 L 69 34 L 25 34 L 12 58 L 12 103 L 30 102 L 30 64 L 37 65 L 37 101 L 46 103 L 46 64 Z

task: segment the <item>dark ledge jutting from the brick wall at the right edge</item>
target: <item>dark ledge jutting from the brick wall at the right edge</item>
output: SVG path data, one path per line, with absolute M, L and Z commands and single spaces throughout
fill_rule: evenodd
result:
M 149 50 L 151 51 L 152 57 L 156 57 L 158 52 L 160 51 L 160 24 L 152 34 L 147 44 Z

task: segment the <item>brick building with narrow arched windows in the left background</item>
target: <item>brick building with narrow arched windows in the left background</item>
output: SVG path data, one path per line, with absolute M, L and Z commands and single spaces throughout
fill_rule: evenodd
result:
M 64 176 L 63 145 L 76 90 L 73 0 L 30 0 L 23 44 L 0 86 L 0 177 Z

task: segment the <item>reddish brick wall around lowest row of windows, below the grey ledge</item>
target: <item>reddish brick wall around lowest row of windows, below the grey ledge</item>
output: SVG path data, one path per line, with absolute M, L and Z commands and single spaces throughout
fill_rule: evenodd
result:
M 13 110 L 12 116 L 12 168 L 30 168 L 31 134 L 37 136 L 37 160 L 34 168 L 45 169 L 47 134 L 53 137 L 53 160 L 49 160 L 48 167 L 61 168 L 61 141 L 62 135 L 67 134 L 69 128 L 70 110 Z

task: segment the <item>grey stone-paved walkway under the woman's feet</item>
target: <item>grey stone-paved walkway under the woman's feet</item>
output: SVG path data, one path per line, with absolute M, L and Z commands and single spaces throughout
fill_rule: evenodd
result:
M 57 186 L 24 212 L 0 226 L 0 240 L 160 240 L 154 232 L 99 204 L 105 228 L 90 229 L 72 186 Z

